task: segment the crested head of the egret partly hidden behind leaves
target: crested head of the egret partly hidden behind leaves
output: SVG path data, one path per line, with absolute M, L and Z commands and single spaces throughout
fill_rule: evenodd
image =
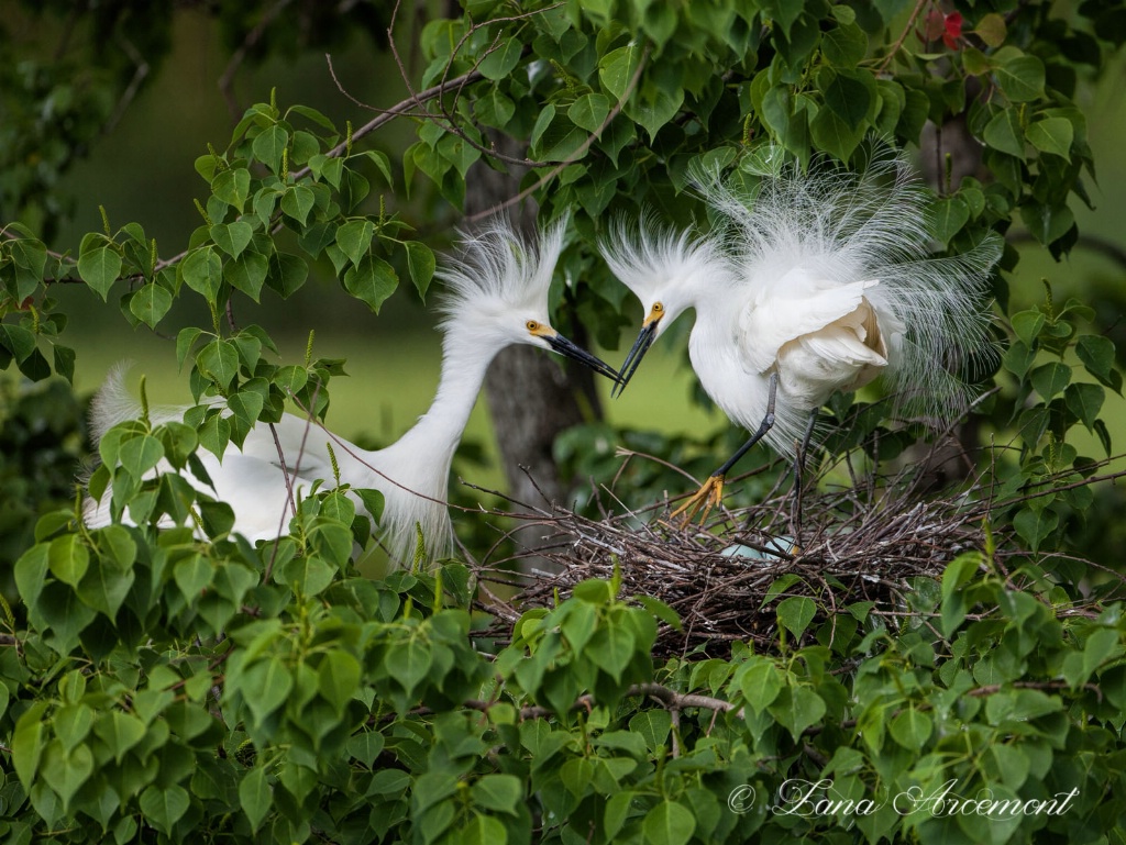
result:
M 467 235 L 459 254 L 437 271 L 450 291 L 441 306 L 447 338 L 473 343 L 489 357 L 513 343 L 527 343 L 617 379 L 617 370 L 551 324 L 547 290 L 566 223 L 565 217 L 556 221 L 536 241 L 503 221 Z

